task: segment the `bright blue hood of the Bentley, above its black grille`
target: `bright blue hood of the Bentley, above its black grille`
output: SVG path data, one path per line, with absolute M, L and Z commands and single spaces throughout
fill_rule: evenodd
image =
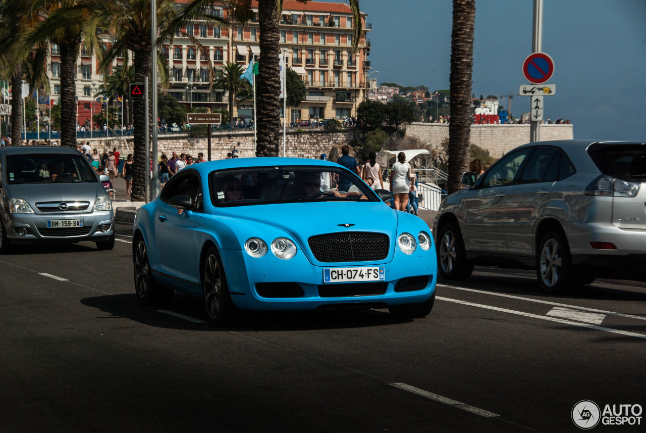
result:
M 307 239 L 322 233 L 371 231 L 394 237 L 397 213 L 383 202 L 316 202 L 240 206 L 223 209 L 237 220 L 267 224 L 297 240 L 300 246 Z

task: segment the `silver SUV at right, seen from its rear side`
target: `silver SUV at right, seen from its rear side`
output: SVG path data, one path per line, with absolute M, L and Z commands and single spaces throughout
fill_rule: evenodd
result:
M 433 222 L 440 274 L 536 269 L 548 293 L 598 277 L 646 281 L 646 144 L 536 142 L 448 196 Z

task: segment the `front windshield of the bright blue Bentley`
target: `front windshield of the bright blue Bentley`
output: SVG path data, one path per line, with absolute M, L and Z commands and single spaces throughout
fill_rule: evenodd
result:
M 348 191 L 337 185 L 349 182 Z M 215 206 L 358 201 L 378 202 L 368 184 L 342 167 L 253 167 L 211 173 L 211 200 Z

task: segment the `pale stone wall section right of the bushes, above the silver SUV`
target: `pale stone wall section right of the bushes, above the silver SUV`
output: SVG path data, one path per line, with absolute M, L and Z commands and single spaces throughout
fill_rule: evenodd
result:
M 574 125 L 542 124 L 539 134 L 541 141 L 572 140 L 574 138 Z M 441 149 L 444 143 L 448 143 L 448 124 L 411 123 L 406 129 L 406 135 L 418 138 L 426 145 Z M 529 124 L 471 126 L 471 144 L 488 150 L 494 158 L 500 158 L 514 147 L 529 143 L 529 136 Z

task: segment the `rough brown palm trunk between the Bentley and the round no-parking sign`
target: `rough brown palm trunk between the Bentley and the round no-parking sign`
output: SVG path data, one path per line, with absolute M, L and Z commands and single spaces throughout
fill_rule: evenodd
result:
M 471 74 L 474 67 L 475 0 L 453 0 L 451 119 L 448 129 L 448 193 L 463 187 L 469 164 Z

